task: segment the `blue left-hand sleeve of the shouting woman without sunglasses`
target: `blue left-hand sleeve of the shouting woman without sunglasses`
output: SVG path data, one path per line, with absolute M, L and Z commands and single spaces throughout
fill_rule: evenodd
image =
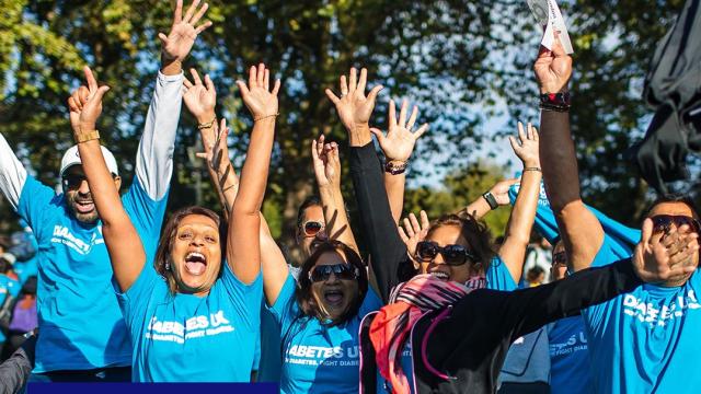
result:
M 124 320 L 126 321 L 129 329 L 133 327 L 138 329 L 143 326 L 143 320 L 146 318 L 147 312 L 146 310 L 151 297 L 153 296 L 154 287 L 159 285 L 159 280 L 162 282 L 161 285 L 163 287 L 168 287 L 165 285 L 165 280 L 158 275 L 153 265 L 149 263 L 143 265 L 143 269 L 141 269 L 139 277 L 125 292 L 119 291 L 118 285 L 114 278 L 112 279 L 112 283 L 117 293 L 119 308 L 122 308 L 122 314 L 124 315 Z

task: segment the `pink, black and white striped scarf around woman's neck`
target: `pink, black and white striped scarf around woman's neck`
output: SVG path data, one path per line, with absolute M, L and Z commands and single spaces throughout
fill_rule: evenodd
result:
M 370 324 L 370 341 L 380 374 L 392 383 L 393 393 L 411 392 L 401 356 L 414 324 L 426 312 L 453 304 L 472 290 L 432 275 L 417 275 L 392 290 L 390 303 Z

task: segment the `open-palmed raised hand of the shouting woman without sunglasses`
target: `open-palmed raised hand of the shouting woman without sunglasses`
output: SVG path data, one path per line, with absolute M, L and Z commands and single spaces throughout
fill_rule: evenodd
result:
M 271 70 L 266 69 L 264 63 L 260 63 L 257 68 L 251 67 L 248 86 L 243 81 L 237 81 L 237 85 L 254 121 L 277 116 L 277 92 L 280 90 L 280 80 L 276 80 L 273 90 L 268 91 Z

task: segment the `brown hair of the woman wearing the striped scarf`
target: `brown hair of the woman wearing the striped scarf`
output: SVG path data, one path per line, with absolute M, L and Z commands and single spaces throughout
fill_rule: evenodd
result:
M 476 264 L 481 264 L 481 269 L 486 273 L 492 258 L 494 258 L 494 248 L 492 247 L 492 234 L 486 224 L 475 219 L 472 215 L 462 210 L 458 213 L 448 213 L 438 218 L 428 228 L 426 237 L 436 231 L 436 229 L 444 225 L 455 225 L 460 228 L 460 235 L 468 241 L 474 256 L 476 257 Z

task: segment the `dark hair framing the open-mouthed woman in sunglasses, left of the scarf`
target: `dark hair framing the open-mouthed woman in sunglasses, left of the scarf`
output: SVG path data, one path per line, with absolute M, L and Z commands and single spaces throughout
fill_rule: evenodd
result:
M 309 271 L 317 265 L 317 260 L 321 257 L 322 254 L 326 252 L 342 252 L 345 255 L 346 263 L 353 265 L 358 269 L 358 292 L 355 294 L 354 299 L 350 301 L 350 305 L 348 310 L 341 316 L 331 321 L 331 323 L 325 324 L 327 326 L 336 326 L 343 324 L 350 320 L 353 316 L 358 314 L 360 310 L 360 304 L 363 300 L 365 300 L 365 296 L 368 292 L 368 273 L 365 264 L 363 264 L 363 259 L 360 256 L 350 248 L 348 245 L 343 242 L 329 240 L 319 243 L 314 253 L 309 256 L 302 263 L 301 270 L 299 271 L 299 279 L 297 282 L 297 303 L 299 305 L 299 310 L 304 316 L 317 317 L 322 323 L 327 318 L 322 314 L 321 309 L 317 305 L 317 301 L 314 300 L 313 294 L 311 293 L 311 285 L 312 281 L 309 279 Z

